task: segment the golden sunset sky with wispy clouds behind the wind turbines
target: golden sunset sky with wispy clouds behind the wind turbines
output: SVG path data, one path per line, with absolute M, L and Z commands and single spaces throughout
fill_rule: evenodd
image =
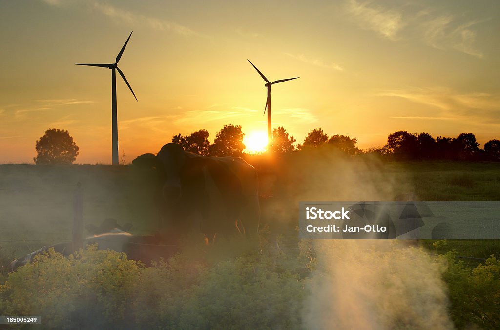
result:
M 67 129 L 77 163 L 111 162 L 111 72 L 119 153 L 227 123 L 312 128 L 383 145 L 396 130 L 500 138 L 499 1 L 0 2 L 0 163 L 32 162 L 35 140 Z

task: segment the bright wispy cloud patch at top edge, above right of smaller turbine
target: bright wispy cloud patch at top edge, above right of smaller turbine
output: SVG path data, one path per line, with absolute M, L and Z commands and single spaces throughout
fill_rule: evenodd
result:
M 373 30 L 380 35 L 395 40 L 397 33 L 405 25 L 402 13 L 396 9 L 374 5 L 371 1 L 347 2 L 347 13 L 350 14 L 364 29 Z

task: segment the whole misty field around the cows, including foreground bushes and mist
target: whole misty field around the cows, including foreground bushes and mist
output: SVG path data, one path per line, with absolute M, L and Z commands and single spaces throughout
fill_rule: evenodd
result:
M 44 256 L 2 271 L 0 311 L 43 315 L 46 328 L 362 328 L 375 316 L 380 328 L 500 326 L 500 240 L 299 240 L 295 228 L 300 200 L 499 200 L 498 163 L 321 154 L 248 161 L 259 171 L 259 248 L 186 240 L 152 267 L 112 251 Z M 132 233 L 157 229 L 154 172 L 0 165 L 0 261 L 70 241 L 77 182 L 85 224 L 114 217 Z M 361 323 L 338 302 L 361 306 Z

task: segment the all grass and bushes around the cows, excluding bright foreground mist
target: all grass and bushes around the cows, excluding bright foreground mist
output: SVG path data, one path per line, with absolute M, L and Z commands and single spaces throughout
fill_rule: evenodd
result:
M 258 249 L 241 242 L 186 242 L 180 254 L 153 267 L 92 248 L 73 258 L 40 256 L 8 276 L 2 272 L 0 314 L 42 314 L 47 327 L 93 319 L 101 327 L 300 328 L 309 285 L 318 274 L 325 275 L 314 245 L 296 238 L 296 201 L 392 200 L 408 193 L 418 200 L 500 200 L 497 162 L 388 161 L 327 148 L 246 159 L 259 170 L 265 226 Z M 78 181 L 84 189 L 85 223 L 113 217 L 131 222 L 132 233 L 157 228 L 151 170 L 0 165 L 4 266 L 12 255 L 70 240 Z M 274 233 L 280 234 L 276 241 Z M 432 262 L 444 262 L 442 280 L 454 325 L 498 328 L 500 240 L 419 243 L 425 250 L 408 256 L 430 253 Z M 397 322 L 412 326 L 406 319 Z

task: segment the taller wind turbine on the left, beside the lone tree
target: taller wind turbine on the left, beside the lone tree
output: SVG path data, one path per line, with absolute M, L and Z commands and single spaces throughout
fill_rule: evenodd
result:
M 133 32 L 133 31 L 132 31 Z M 111 69 L 111 150 L 112 150 L 112 164 L 117 165 L 118 164 L 118 119 L 117 119 L 117 114 L 116 114 L 116 70 L 118 70 L 118 73 L 121 75 L 123 78 L 123 81 L 125 81 L 126 85 L 130 89 L 130 91 L 133 94 L 133 97 L 135 97 L 135 100 L 137 100 L 137 97 L 135 96 L 135 93 L 132 90 L 132 87 L 130 87 L 130 84 L 125 78 L 125 75 L 121 70 L 118 68 L 118 61 L 121 58 L 121 55 L 123 54 L 123 50 L 125 50 L 126 44 L 128 43 L 128 40 L 130 39 L 130 36 L 132 36 L 132 32 L 130 32 L 130 35 L 125 41 L 125 44 L 123 44 L 123 47 L 121 47 L 120 52 L 118 55 L 116 55 L 116 60 L 114 61 L 113 64 L 74 64 L 74 65 L 87 65 L 87 66 L 98 66 L 98 67 L 107 67 Z

